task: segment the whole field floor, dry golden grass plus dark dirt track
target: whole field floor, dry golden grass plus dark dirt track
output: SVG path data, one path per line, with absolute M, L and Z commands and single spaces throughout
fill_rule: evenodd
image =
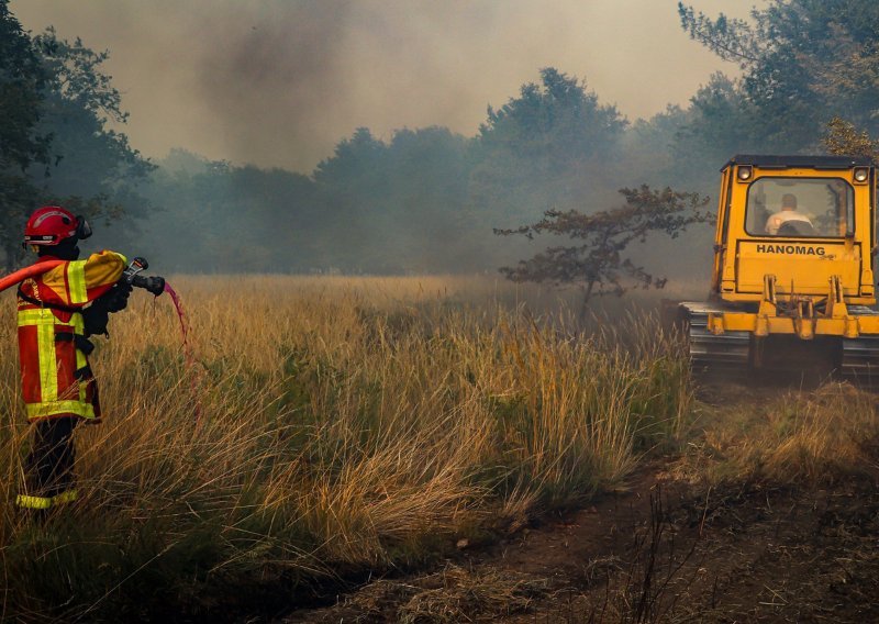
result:
M 870 392 L 699 387 L 645 299 L 583 321 L 576 293 L 489 277 L 171 283 L 189 352 L 167 297 L 114 316 L 81 499 L 44 522 L 12 505 L 29 427 L 2 300 L 0 619 L 871 613 Z

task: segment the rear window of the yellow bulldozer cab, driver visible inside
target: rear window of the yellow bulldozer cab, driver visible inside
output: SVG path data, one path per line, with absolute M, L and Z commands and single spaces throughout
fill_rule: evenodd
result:
M 841 178 L 760 178 L 748 187 L 752 236 L 843 237 L 855 231 L 854 189 Z

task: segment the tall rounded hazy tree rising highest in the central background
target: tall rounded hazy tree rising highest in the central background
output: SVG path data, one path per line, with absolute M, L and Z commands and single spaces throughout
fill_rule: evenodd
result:
M 585 81 L 553 67 L 500 109 L 489 107 L 474 145 L 470 203 L 490 224 L 521 221 L 534 207 L 577 205 L 612 170 L 627 125 Z

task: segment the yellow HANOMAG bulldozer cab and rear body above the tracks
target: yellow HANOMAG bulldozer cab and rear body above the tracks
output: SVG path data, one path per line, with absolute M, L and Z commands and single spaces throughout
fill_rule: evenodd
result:
M 868 158 L 737 155 L 721 170 L 712 291 L 876 303 L 876 172 Z M 834 286 L 836 285 L 836 286 Z

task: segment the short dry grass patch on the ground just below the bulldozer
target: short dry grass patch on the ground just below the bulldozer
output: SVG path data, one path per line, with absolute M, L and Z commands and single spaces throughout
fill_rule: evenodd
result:
M 875 392 L 831 381 L 811 390 L 743 387 L 739 392 L 725 404 L 696 410 L 702 416 L 675 469 L 678 476 L 710 486 L 810 487 L 876 475 Z

